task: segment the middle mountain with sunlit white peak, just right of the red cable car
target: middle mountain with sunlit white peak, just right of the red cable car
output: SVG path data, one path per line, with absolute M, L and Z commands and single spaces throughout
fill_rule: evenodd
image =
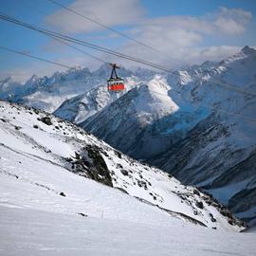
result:
M 173 115 L 179 109 L 168 97 L 170 89 L 166 80 L 156 76 L 80 125 L 128 155 L 138 159 L 145 159 L 146 155 L 150 158 L 160 145 L 163 147 L 169 143 L 164 137 L 155 139 L 154 135 L 158 137 L 155 121 Z

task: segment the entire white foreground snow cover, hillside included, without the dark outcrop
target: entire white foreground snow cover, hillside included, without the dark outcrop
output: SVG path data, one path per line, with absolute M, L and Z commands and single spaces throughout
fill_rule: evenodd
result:
M 52 124 L 42 122 L 44 117 Z M 68 169 L 64 157 L 75 157 L 86 144 L 101 147 L 114 188 Z M 45 112 L 0 101 L 0 153 L 1 255 L 256 253 L 255 234 L 231 232 L 244 228 L 229 225 L 202 192 L 193 194 L 192 187 L 174 177 Z M 142 181 L 147 190 L 137 185 Z M 195 207 L 197 200 L 204 209 Z M 217 230 L 196 226 L 174 211 Z M 210 213 L 216 222 L 210 221 Z

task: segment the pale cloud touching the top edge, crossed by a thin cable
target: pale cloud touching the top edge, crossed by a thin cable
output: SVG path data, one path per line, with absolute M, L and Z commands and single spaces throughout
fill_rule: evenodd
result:
M 144 9 L 138 0 L 76 0 L 68 8 L 108 27 L 135 24 L 144 16 Z M 65 9 L 46 16 L 46 23 L 58 27 L 64 32 L 82 33 L 103 29 L 103 27 L 86 21 L 83 17 Z

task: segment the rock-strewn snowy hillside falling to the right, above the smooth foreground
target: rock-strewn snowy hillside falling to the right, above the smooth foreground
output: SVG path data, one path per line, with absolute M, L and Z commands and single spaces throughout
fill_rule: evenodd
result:
M 69 122 L 3 101 L 0 117 L 4 206 L 103 214 L 138 223 L 173 225 L 183 220 L 212 229 L 244 229 L 209 195 L 120 154 Z

